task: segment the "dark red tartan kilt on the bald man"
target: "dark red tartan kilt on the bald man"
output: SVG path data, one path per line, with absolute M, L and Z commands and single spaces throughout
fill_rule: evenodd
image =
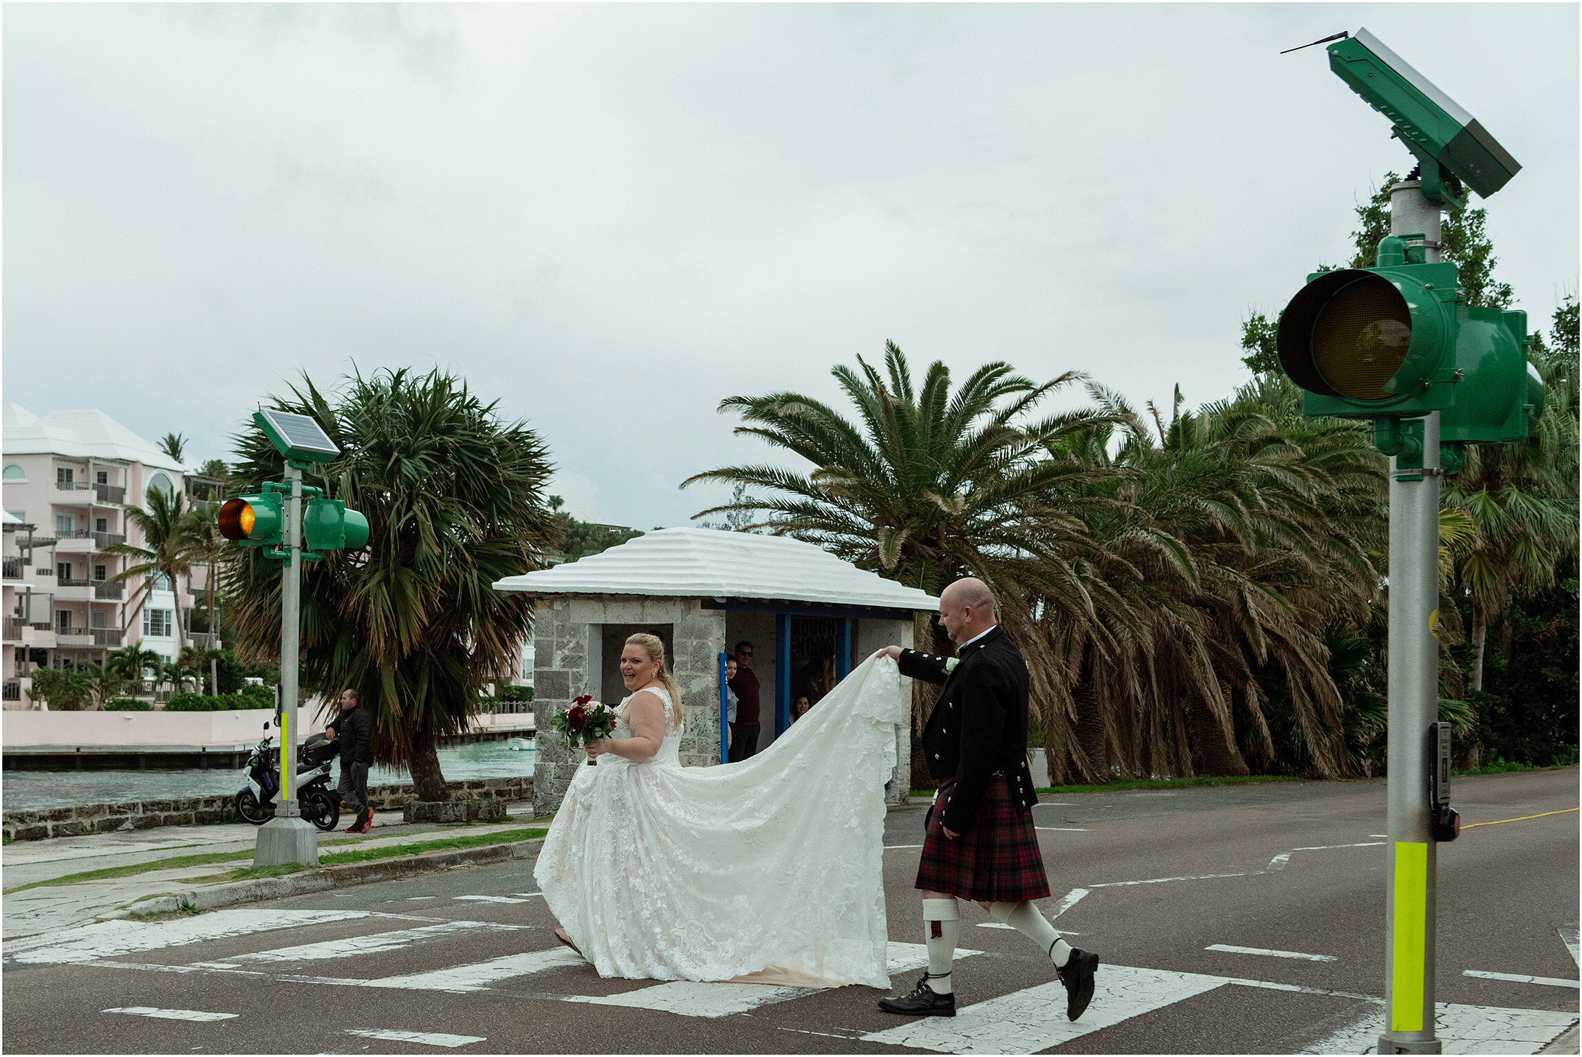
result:
M 989 779 L 971 829 L 951 840 L 944 835 L 943 818 L 944 797 L 954 785 L 940 786 L 929 809 L 916 886 L 986 904 L 1046 899 L 1049 878 L 1038 850 L 1033 813 L 1017 813 L 1005 775 Z

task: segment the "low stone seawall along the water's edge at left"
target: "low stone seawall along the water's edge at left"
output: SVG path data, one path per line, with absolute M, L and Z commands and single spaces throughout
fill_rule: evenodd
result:
M 533 779 L 473 779 L 446 782 L 451 799 L 457 801 L 532 801 Z M 400 810 L 416 799 L 411 785 L 369 786 L 369 801 L 381 812 Z M 342 815 L 345 816 L 345 813 Z M 190 796 L 174 801 L 128 801 L 123 804 L 78 804 L 36 812 L 6 812 L 5 835 L 11 840 L 43 840 L 46 837 L 81 837 L 120 829 L 153 829 L 155 826 L 196 826 L 237 821 L 236 799 L 231 796 Z

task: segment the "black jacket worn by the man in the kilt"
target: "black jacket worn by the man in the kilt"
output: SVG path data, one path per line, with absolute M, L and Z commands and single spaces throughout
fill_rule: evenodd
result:
M 1038 794 L 1027 766 L 1027 661 L 1005 630 L 995 625 L 960 650 L 949 674 L 943 657 L 902 650 L 900 674 L 943 684 L 922 731 L 922 750 L 937 782 L 956 782 L 944 809 L 946 829 L 971 829 L 997 771 L 1005 772 L 1016 810 L 1031 810 Z

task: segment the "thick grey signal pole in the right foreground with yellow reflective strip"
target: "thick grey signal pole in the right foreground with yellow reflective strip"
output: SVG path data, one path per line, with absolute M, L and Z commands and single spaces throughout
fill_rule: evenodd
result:
M 1440 206 L 1416 180 L 1391 188 L 1391 234 L 1440 256 Z M 1389 460 L 1389 842 L 1381 1054 L 1438 1054 L 1433 1021 L 1436 842 L 1427 797 L 1427 731 L 1440 718 L 1440 413 L 1421 424 L 1422 457 Z M 1414 465 L 1419 464 L 1421 467 Z M 1400 468 L 1406 464 L 1406 468 Z

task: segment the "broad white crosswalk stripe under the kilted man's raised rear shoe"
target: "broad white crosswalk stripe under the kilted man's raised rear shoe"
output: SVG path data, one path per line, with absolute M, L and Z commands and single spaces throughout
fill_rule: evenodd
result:
M 922 1017 L 865 1043 L 913 1046 L 944 1054 L 1036 1054 L 1106 1027 L 1220 987 L 1220 976 L 1194 976 L 1123 965 L 1099 967 L 1099 995 L 1081 1021 L 1066 1021 L 1066 989 L 1055 981 L 978 1002 L 954 1017 Z

